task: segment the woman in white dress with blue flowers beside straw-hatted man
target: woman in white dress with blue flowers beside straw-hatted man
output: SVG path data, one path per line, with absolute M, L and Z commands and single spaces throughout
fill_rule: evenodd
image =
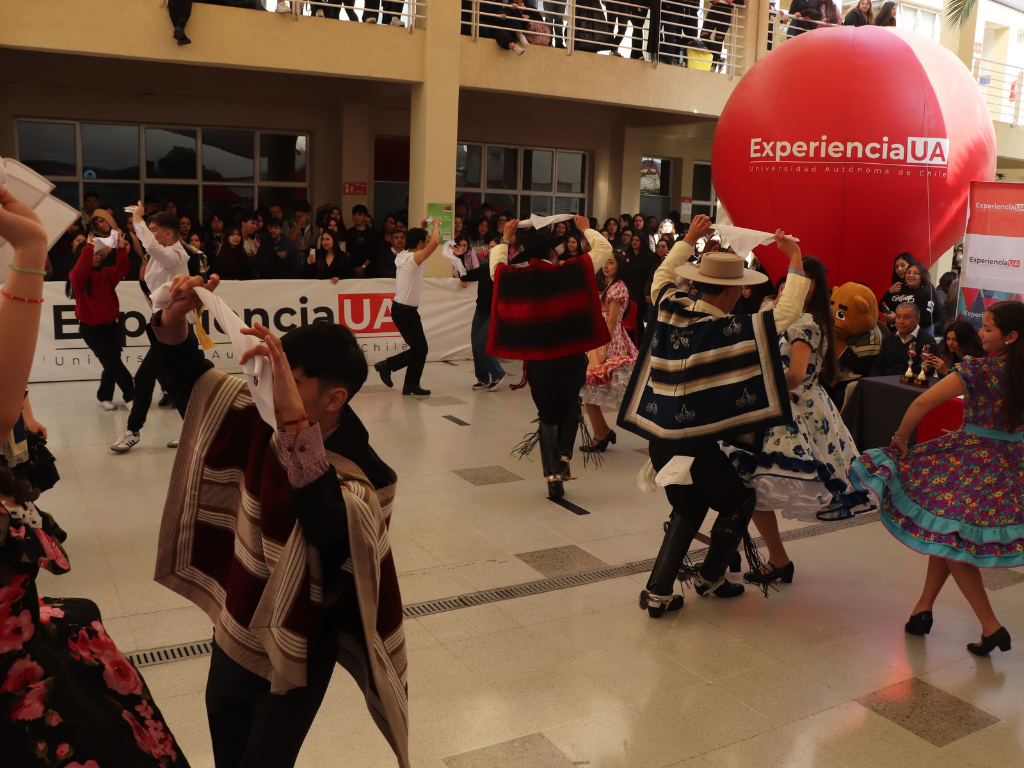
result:
M 758 496 L 753 519 L 768 547 L 768 562 L 760 572 L 745 574 L 753 584 L 793 582 L 795 566 L 782 545 L 775 510 L 805 520 L 815 515 L 843 519 L 868 506 L 867 495 L 850 484 L 850 465 L 857 458 L 853 438 L 821 386 L 836 373 L 827 274 L 813 256 L 804 258 L 804 272 L 812 281 L 804 312 L 779 337 L 793 421 L 769 430 L 761 453 L 723 444 Z

